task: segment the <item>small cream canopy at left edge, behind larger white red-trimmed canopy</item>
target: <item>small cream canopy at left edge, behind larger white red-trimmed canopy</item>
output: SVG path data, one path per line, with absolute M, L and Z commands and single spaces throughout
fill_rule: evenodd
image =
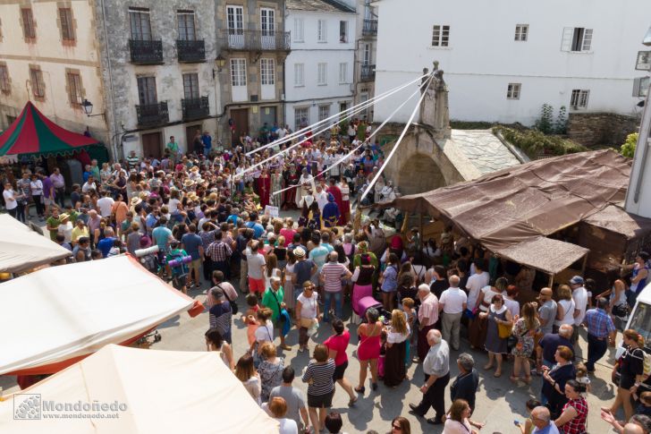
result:
M 72 252 L 65 247 L 8 214 L 0 215 L 0 273 L 20 273 L 68 256 Z

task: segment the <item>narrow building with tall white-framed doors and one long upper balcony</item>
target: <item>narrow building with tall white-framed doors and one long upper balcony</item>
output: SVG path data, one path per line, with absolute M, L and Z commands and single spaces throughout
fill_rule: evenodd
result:
M 217 1 L 216 51 L 221 101 L 218 129 L 224 145 L 252 137 L 265 123 L 285 123 L 284 60 L 290 52 L 283 0 Z

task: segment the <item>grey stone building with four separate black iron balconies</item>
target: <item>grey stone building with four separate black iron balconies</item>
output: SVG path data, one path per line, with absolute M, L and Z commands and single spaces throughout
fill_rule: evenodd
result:
M 160 157 L 173 136 L 191 149 L 217 134 L 214 0 L 98 0 L 106 116 L 115 155 Z

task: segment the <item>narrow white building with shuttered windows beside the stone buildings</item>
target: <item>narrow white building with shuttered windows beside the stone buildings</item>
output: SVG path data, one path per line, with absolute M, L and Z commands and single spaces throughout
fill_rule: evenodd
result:
M 292 52 L 285 61 L 285 119 L 296 131 L 352 105 L 357 17 L 334 1 L 288 0 L 286 8 Z

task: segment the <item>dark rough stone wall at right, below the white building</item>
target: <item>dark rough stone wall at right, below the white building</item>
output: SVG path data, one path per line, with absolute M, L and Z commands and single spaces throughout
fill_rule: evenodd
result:
M 613 113 L 571 113 L 567 133 L 582 145 L 620 146 L 631 132 L 637 132 L 639 118 Z

